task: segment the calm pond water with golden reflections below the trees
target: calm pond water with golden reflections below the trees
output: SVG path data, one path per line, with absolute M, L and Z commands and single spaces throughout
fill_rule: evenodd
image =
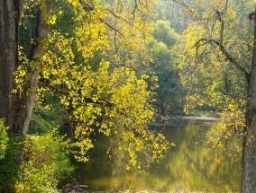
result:
M 217 159 L 206 150 L 206 132 L 215 122 L 173 120 L 162 133 L 176 147 L 166 159 L 143 174 L 124 174 L 122 163 L 105 156 L 107 141 L 96 145 L 92 161 L 78 165 L 74 174 L 90 192 L 237 192 L 240 187 L 240 160 Z M 105 139 L 106 140 L 106 139 Z M 102 141 L 102 140 L 101 140 Z

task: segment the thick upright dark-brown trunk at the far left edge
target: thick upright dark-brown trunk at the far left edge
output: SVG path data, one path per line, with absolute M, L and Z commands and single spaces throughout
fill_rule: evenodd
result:
M 14 121 L 14 71 L 18 65 L 18 1 L 0 0 L 0 118 L 5 125 Z

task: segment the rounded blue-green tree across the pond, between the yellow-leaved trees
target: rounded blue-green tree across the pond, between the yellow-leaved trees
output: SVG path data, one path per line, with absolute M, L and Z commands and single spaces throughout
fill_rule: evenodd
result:
M 174 67 L 175 52 L 172 49 L 179 42 L 179 35 L 169 27 L 169 22 L 157 21 L 152 31 L 153 38 L 148 43 L 150 49 L 150 70 L 158 76 L 159 87 L 156 89 L 156 105 L 160 110 L 169 110 L 177 113 L 182 109 L 180 96 L 184 93 L 180 90 L 178 73 Z

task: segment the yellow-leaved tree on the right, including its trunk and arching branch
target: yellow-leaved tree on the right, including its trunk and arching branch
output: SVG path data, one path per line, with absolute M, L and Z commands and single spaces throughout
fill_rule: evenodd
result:
M 176 2 L 187 6 L 198 19 L 184 31 L 187 43 L 182 47 L 186 48 L 189 59 L 179 55 L 188 62 L 180 66 L 186 69 L 183 83 L 200 86 L 200 89 L 191 89 L 187 99 L 197 101 L 197 105 L 219 106 L 230 112 L 225 117 L 228 118 L 225 128 L 229 130 L 224 130 L 224 137 L 218 138 L 218 145 L 233 136 L 242 141 L 241 192 L 255 192 L 256 13 L 251 13 L 255 2 L 227 0 L 204 4 L 197 1 L 189 6 Z M 242 13 L 251 13 L 250 23 Z M 230 74 L 234 70 L 236 75 Z

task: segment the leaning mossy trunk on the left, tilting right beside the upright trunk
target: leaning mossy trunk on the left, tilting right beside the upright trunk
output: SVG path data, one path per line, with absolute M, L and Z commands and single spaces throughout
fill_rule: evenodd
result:
M 42 10 L 37 13 L 36 31 L 33 39 L 36 39 L 32 45 L 30 54 L 31 66 L 29 68 L 29 82 L 25 86 L 23 97 L 20 101 L 19 109 L 16 115 L 15 127 L 22 131 L 23 135 L 27 135 L 29 123 L 32 117 L 32 109 L 34 101 L 37 98 L 37 87 L 39 84 L 39 75 L 41 72 L 40 59 L 44 54 L 48 33 L 49 23 L 46 21 L 50 14 L 50 8 L 53 0 L 45 0 Z

